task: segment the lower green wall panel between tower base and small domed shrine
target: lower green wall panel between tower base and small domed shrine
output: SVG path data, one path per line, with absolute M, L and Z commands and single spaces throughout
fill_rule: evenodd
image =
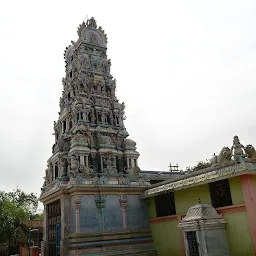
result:
M 152 223 L 152 234 L 158 256 L 181 256 L 178 221 Z

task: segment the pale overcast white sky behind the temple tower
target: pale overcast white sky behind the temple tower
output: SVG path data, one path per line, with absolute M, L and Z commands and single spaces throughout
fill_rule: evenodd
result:
M 0 190 L 40 194 L 58 118 L 63 53 L 94 16 L 142 170 L 256 146 L 256 1 L 2 1 Z

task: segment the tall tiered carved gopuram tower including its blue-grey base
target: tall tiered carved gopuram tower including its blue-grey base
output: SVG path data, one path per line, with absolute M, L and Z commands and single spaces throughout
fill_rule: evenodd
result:
M 107 36 L 94 18 L 65 50 L 55 143 L 47 161 L 42 254 L 156 255 L 148 226 L 150 185 L 124 126 Z

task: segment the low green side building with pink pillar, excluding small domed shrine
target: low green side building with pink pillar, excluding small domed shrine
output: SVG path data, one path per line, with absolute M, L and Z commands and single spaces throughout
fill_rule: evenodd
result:
M 240 142 L 234 140 L 237 147 Z M 225 148 L 227 157 L 220 154 L 222 160 L 213 159 L 209 168 L 161 182 L 143 193 L 142 197 L 150 200 L 149 222 L 159 256 L 187 255 L 178 225 L 198 198 L 226 220 L 230 255 L 256 255 L 256 152 L 251 145 L 242 151 L 231 154 Z M 200 245 L 198 250 L 199 254 L 193 255 L 203 255 Z

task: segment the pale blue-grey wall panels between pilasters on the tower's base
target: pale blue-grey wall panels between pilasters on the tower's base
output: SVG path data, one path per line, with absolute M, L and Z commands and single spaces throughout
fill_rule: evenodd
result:
M 127 230 L 148 228 L 149 204 L 140 200 L 139 195 L 127 195 L 126 223 Z M 100 232 L 100 212 L 96 206 L 94 195 L 80 196 L 80 232 Z M 104 195 L 104 231 L 123 231 L 123 214 L 120 195 Z M 76 197 L 72 197 L 74 205 Z M 72 207 L 71 232 L 76 232 L 76 209 Z

